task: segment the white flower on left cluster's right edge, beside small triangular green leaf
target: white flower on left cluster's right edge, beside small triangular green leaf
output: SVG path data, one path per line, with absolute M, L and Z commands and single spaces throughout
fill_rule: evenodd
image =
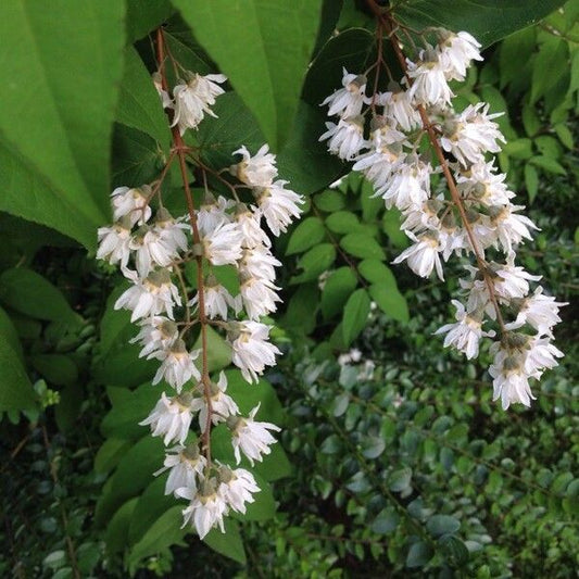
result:
M 229 337 L 232 348 L 232 362 L 241 370 L 248 382 L 257 381 L 265 366 L 274 366 L 276 354 L 281 352 L 267 340 L 269 326 L 259 322 L 238 322 Z

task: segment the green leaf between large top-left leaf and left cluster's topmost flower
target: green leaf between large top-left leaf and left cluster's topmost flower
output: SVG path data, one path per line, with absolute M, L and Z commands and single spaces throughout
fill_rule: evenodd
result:
M 125 71 L 115 118 L 124 125 L 147 133 L 156 139 L 165 151 L 168 150 L 168 118 L 163 112 L 151 75 L 133 47 L 125 50 Z

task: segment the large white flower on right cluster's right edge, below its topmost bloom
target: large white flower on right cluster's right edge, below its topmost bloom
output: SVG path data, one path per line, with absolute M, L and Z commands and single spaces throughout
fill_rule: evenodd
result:
M 464 166 L 483 162 L 484 152 L 498 153 L 501 151 L 498 141 L 506 142 L 499 130 L 499 125 L 492 122 L 503 113 L 488 114 L 488 112 L 489 104 L 483 102 L 469 104 L 455 118 L 448 118 L 442 126 L 443 135 L 440 138 L 442 148 L 452 153 Z

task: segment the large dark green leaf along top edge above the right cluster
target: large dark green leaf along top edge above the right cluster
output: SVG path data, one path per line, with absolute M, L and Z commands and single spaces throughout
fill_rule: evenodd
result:
M 407 0 L 394 14 L 413 28 L 442 26 L 468 30 L 488 47 L 543 18 L 565 0 Z

